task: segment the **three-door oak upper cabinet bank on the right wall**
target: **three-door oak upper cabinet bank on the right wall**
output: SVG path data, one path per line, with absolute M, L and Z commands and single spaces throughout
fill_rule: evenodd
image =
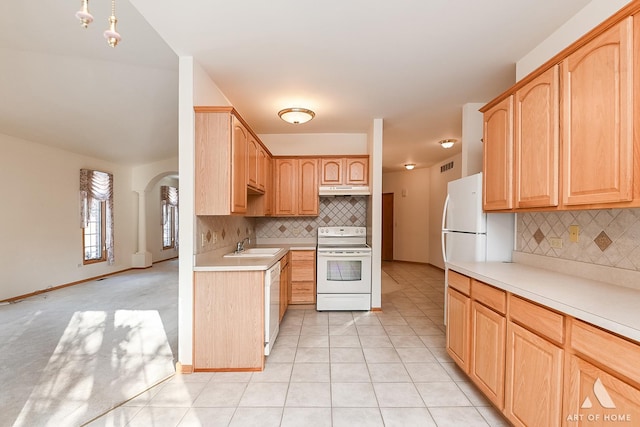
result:
M 481 109 L 485 210 L 640 206 L 638 12 L 630 2 Z

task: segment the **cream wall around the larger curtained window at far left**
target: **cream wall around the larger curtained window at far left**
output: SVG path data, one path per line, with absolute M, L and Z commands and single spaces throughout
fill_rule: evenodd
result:
M 121 271 L 135 251 L 131 168 L 0 134 L 0 300 Z M 114 181 L 115 264 L 83 265 L 80 169 Z

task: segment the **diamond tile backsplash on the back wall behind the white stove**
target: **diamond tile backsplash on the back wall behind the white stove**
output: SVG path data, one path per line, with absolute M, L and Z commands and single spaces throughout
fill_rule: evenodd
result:
M 367 225 L 367 196 L 321 197 L 317 217 L 256 218 L 258 238 L 315 238 L 318 227 Z

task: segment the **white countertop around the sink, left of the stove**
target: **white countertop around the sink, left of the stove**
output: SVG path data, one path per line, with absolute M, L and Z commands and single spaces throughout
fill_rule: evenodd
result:
M 302 251 L 302 250 L 315 250 L 316 245 L 311 243 L 292 243 L 292 244 L 260 244 L 251 246 L 255 248 L 280 248 L 272 257 L 259 257 L 259 258 L 243 258 L 243 257 L 227 257 L 223 255 L 230 253 L 230 250 L 225 250 L 222 253 L 219 251 L 210 251 L 203 254 L 195 255 L 195 263 L 193 271 L 260 271 L 268 270 L 271 268 L 280 258 L 282 258 L 288 251 Z

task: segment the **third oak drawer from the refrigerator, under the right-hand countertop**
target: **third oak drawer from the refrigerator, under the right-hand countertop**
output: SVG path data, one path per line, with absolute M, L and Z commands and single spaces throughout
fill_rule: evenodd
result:
M 560 313 L 510 294 L 509 317 L 557 344 L 564 343 L 564 316 Z

